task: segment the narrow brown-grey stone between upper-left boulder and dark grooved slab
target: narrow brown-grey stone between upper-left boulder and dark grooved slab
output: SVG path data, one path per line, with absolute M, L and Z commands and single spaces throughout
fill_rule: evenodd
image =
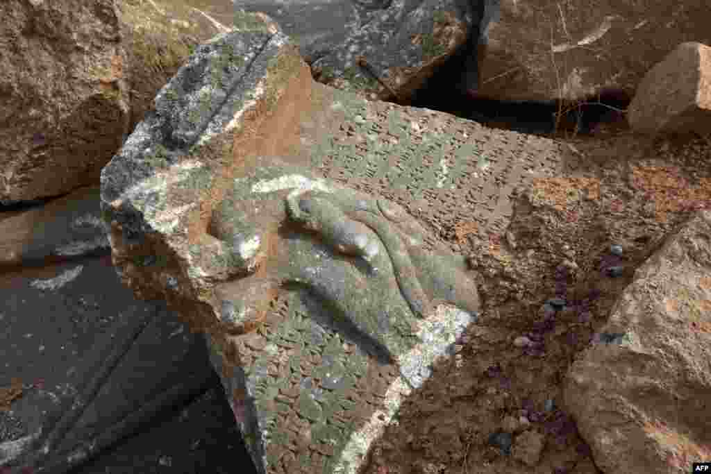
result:
M 107 252 L 98 186 L 82 188 L 47 205 L 0 216 L 0 265 L 37 264 Z

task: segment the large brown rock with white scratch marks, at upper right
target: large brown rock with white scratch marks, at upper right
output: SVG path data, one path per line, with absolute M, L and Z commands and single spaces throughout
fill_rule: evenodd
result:
M 619 87 L 631 95 L 676 45 L 709 43 L 710 21 L 702 1 L 501 0 L 501 19 L 488 31 L 481 92 L 547 99 Z

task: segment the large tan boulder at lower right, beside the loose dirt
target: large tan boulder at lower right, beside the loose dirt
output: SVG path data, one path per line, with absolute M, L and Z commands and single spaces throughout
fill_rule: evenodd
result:
M 605 473 L 681 474 L 711 458 L 710 235 L 708 211 L 680 226 L 570 368 L 565 404 Z

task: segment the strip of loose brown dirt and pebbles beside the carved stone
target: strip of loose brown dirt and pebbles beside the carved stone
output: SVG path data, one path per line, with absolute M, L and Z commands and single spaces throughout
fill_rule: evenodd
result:
M 451 232 L 480 275 L 481 318 L 402 406 L 365 473 L 602 472 L 561 408 L 562 380 L 635 269 L 711 208 L 711 143 L 620 134 L 567 146 L 559 176 L 516 188 L 504 232 Z

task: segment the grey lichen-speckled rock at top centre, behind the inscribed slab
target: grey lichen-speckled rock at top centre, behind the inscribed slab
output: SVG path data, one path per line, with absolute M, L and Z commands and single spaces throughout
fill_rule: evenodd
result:
M 306 0 L 240 1 L 235 6 L 266 12 L 297 38 L 319 82 L 366 97 L 408 102 L 476 29 L 478 4 Z

